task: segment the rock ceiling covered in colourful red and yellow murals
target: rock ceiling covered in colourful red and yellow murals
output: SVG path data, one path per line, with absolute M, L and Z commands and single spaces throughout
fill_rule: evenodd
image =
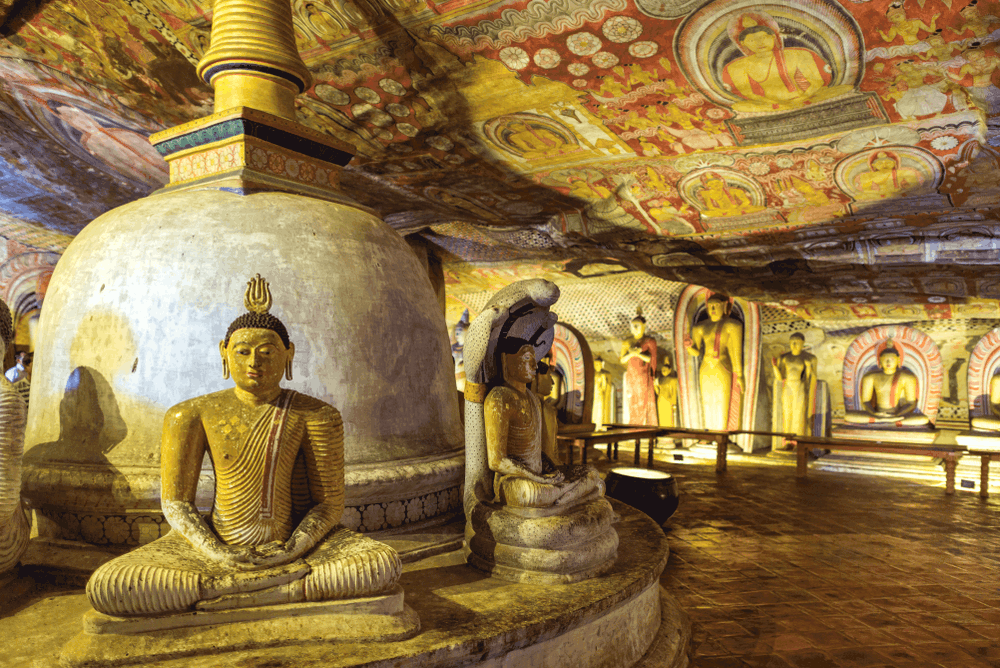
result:
M 790 307 L 1000 297 L 994 0 L 292 9 L 299 119 L 357 148 L 353 196 L 453 280 L 610 264 Z M 0 0 L 4 236 L 59 250 L 165 182 L 145 137 L 211 112 L 211 18 Z

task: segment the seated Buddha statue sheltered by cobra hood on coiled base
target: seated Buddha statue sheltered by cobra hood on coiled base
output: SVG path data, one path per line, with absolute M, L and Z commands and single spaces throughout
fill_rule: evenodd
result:
M 552 345 L 559 289 L 541 279 L 498 292 L 466 340 L 468 561 L 518 582 L 575 582 L 614 564 L 618 534 L 595 470 L 544 455 L 529 386 Z

